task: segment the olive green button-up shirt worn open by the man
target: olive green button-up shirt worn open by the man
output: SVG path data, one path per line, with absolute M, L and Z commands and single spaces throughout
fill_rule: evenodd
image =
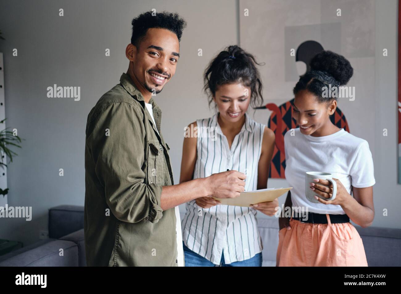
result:
M 88 266 L 177 266 L 174 208 L 162 210 L 173 185 L 168 145 L 153 98 L 123 73 L 89 112 L 85 141 L 85 254 Z M 157 127 L 157 130 L 156 130 Z M 180 232 L 179 232 L 180 233 Z

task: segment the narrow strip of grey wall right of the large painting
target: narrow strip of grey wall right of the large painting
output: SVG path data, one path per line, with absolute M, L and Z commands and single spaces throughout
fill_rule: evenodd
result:
M 369 112 L 358 113 L 369 117 L 375 113 L 375 128 L 369 130 L 375 134 L 375 178 L 374 200 L 375 221 L 373 226 L 400 228 L 401 185 L 397 184 L 398 165 L 398 111 L 397 111 L 397 63 L 398 63 L 398 1 L 386 0 L 375 2 L 375 106 Z M 383 48 L 389 54 L 383 56 Z M 383 136 L 383 129 L 388 136 Z M 369 142 L 370 143 L 370 142 Z M 383 216 L 383 210 L 388 216 Z

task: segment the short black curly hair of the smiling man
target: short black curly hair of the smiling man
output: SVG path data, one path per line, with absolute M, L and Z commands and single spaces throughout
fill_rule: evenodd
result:
M 132 20 L 131 44 L 139 48 L 142 38 L 146 35 L 149 28 L 164 28 L 169 30 L 177 35 L 178 42 L 180 42 L 182 30 L 186 28 L 186 21 L 177 13 L 163 11 L 156 12 L 154 16 L 152 16 L 152 13 L 152 11 L 142 13 Z

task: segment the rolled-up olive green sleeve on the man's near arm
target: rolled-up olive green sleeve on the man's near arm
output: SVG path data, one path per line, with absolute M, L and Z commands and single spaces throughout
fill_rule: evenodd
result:
M 144 184 L 142 112 L 130 103 L 114 102 L 103 108 L 93 123 L 96 125 L 87 141 L 111 212 L 124 222 L 158 222 L 163 212 L 162 186 Z

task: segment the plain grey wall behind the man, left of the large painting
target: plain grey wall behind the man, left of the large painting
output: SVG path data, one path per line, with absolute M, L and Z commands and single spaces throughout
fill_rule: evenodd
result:
M 131 40 L 132 18 L 152 8 L 178 12 L 188 23 L 176 74 L 156 98 L 178 182 L 184 127 L 213 114 L 201 90 L 202 73 L 224 46 L 238 42 L 236 3 L 1 1 L 6 122 L 26 139 L 8 169 L 8 205 L 32 206 L 33 217 L 30 222 L 0 219 L 0 238 L 28 245 L 38 239 L 40 230 L 47 230 L 49 208 L 84 205 L 87 115 L 128 69 L 125 48 Z M 59 8 L 64 9 L 63 17 Z M 13 48 L 18 57 L 12 56 Z M 105 57 L 105 48 L 110 48 L 110 57 Z M 198 48 L 203 49 L 201 57 Z M 46 89 L 53 84 L 81 86 L 81 100 L 47 98 Z M 59 168 L 64 169 L 63 177 Z

